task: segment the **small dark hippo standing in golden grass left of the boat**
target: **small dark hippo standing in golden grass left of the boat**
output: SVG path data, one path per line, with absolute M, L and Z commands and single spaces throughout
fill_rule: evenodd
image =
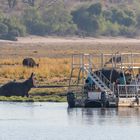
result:
M 24 58 L 23 62 L 22 62 L 23 66 L 27 66 L 27 67 L 35 67 L 35 66 L 39 66 L 39 64 L 36 64 L 35 60 L 33 58 Z

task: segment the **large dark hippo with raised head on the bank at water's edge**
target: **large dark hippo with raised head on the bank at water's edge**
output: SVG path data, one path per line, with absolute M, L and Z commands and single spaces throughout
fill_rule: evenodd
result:
M 34 85 L 34 73 L 24 82 L 9 82 L 0 87 L 0 96 L 29 96 L 28 92 Z

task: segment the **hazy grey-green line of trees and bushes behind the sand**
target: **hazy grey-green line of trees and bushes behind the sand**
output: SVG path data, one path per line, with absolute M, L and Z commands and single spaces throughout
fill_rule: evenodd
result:
M 8 1 L 12 6 L 17 0 Z M 140 14 L 127 7 L 104 8 L 101 3 L 93 3 L 67 10 L 63 1 L 55 1 L 52 6 L 39 9 L 34 5 L 35 0 L 22 1 L 29 6 L 20 16 L 7 17 L 0 13 L 1 39 L 16 40 L 16 37 L 27 34 L 82 37 L 139 35 Z

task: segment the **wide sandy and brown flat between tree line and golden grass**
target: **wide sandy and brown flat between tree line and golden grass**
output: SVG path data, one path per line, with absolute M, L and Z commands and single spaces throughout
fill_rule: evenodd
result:
M 18 41 L 0 40 L 0 58 L 70 57 L 73 53 L 140 52 L 140 39 L 20 37 Z

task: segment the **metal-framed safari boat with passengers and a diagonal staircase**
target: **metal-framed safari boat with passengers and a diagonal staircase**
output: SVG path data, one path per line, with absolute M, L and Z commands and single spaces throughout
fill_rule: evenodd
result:
M 140 53 L 73 54 L 69 107 L 139 107 Z

